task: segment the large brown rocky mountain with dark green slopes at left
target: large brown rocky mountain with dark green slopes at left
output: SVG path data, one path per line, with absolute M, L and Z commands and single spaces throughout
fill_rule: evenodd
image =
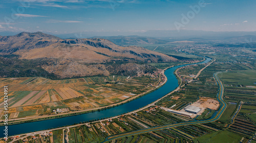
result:
M 1 36 L 0 56 L 1 77 L 37 75 L 42 71 L 52 78 L 136 75 L 155 70 L 147 63 L 177 61 L 166 54 L 122 47 L 105 39 L 61 39 L 41 32 Z

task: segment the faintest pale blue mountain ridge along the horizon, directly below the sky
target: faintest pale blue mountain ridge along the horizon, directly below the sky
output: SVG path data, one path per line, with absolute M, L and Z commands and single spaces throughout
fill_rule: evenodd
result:
M 19 32 L 20 33 L 20 32 Z M 0 32 L 2 36 L 13 36 L 18 34 L 18 32 Z M 95 36 L 141 36 L 141 37 L 161 37 L 161 38 L 174 38 L 174 39 L 189 39 L 189 38 L 203 38 L 207 40 L 224 39 L 228 37 L 239 37 L 246 35 L 256 36 L 256 32 L 213 32 L 213 31 L 198 31 L 198 30 L 149 30 L 145 32 L 75 32 L 69 34 L 56 34 L 47 33 L 60 37 L 62 39 L 66 38 L 90 38 Z

